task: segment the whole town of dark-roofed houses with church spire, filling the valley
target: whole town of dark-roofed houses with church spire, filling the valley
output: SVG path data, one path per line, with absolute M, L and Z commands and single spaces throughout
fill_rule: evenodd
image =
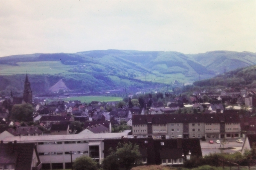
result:
M 24 78 L 23 97 L 11 92 L 1 99 L 0 157 L 15 160 L 4 165 L 10 169 L 71 169 L 84 155 L 101 163 L 119 142 L 137 144 L 141 164 L 180 166 L 206 155 L 209 144 L 244 154 L 256 142 L 256 88 L 204 89 L 190 96 L 140 91 L 117 102 L 46 103 L 33 97 L 29 76 Z

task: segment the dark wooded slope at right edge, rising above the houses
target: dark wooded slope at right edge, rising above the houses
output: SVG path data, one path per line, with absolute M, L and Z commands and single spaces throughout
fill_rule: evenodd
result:
M 229 71 L 226 74 L 218 75 L 211 79 L 204 79 L 194 82 L 196 86 L 227 86 L 239 87 L 242 85 L 256 85 L 256 65 L 248 66 L 245 68 L 238 68 Z

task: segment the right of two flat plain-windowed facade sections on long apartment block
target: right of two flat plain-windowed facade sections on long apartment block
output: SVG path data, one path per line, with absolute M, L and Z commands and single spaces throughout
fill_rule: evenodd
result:
M 204 123 L 189 123 L 189 138 L 201 138 L 204 135 Z

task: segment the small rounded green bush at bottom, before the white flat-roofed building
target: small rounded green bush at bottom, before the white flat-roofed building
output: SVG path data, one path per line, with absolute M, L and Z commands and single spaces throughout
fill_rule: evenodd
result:
M 89 156 L 80 156 L 74 161 L 73 168 L 75 170 L 97 170 L 97 162 Z

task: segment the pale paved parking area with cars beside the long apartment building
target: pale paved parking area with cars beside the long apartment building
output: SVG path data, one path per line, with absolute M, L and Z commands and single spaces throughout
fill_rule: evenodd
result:
M 242 139 L 244 141 L 244 139 Z M 214 144 L 209 144 L 209 139 L 206 141 L 200 141 L 202 154 L 203 156 L 209 154 L 209 153 L 235 153 L 242 149 L 243 143 L 237 143 L 236 139 L 228 139 L 228 144 L 225 144 L 224 147 L 234 147 L 235 149 L 227 149 L 227 150 L 220 150 L 218 149 L 221 144 L 217 144 L 214 141 Z M 222 145 L 221 145 L 222 147 Z

